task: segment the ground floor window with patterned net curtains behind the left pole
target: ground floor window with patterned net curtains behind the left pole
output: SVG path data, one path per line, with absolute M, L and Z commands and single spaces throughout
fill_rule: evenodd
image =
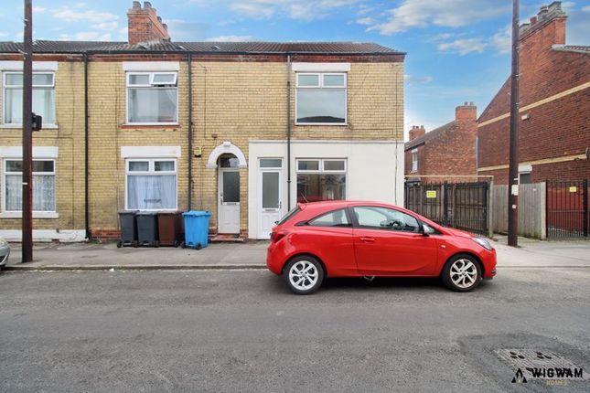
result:
M 4 160 L 3 211 L 23 209 L 23 161 Z M 55 160 L 33 160 L 33 211 L 55 212 Z

